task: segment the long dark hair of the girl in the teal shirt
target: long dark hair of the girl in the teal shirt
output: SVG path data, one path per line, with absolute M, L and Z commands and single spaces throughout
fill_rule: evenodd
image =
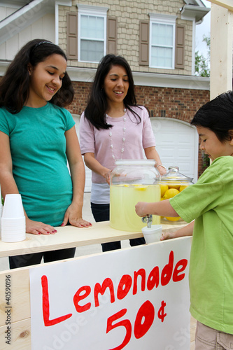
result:
M 59 46 L 43 39 L 34 39 L 26 43 L 15 55 L 6 74 L 0 82 L 0 107 L 6 107 L 10 113 L 19 113 L 29 97 L 28 64 L 35 67 L 48 56 L 58 54 L 66 59 L 64 51 Z M 69 106 L 73 101 L 74 90 L 67 73 L 62 78 L 62 87 L 50 99 L 59 107 Z

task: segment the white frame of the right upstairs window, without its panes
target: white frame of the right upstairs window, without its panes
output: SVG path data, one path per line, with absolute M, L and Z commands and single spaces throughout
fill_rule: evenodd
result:
M 149 66 L 151 68 L 175 69 L 175 50 L 176 50 L 175 44 L 176 44 L 176 18 L 177 18 L 177 16 L 163 15 L 161 13 L 149 13 L 149 16 L 150 16 Z M 153 66 L 151 63 L 151 61 L 152 61 L 151 52 L 152 52 L 152 26 L 153 26 L 153 24 L 172 25 L 172 27 L 173 27 L 171 67 Z M 166 47 L 166 46 L 164 46 L 164 47 Z M 169 46 L 169 47 L 171 47 L 171 46 Z

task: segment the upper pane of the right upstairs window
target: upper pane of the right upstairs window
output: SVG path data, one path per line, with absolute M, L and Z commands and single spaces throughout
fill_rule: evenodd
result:
M 173 26 L 152 24 L 152 45 L 172 46 L 173 45 Z

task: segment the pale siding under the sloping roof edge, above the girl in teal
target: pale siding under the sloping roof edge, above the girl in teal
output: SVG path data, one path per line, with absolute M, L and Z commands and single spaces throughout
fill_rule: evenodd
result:
M 1 44 L 1 59 L 13 59 L 22 45 L 34 38 L 44 38 L 55 43 L 55 15 L 44 15 L 34 22 L 33 25 L 29 25 L 29 27 L 23 29 L 12 38 L 9 38 L 8 41 Z

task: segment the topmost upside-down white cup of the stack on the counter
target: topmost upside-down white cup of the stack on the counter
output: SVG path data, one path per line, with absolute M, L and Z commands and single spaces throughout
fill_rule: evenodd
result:
M 5 197 L 3 205 L 3 218 L 22 218 L 24 209 L 20 194 L 8 194 Z

